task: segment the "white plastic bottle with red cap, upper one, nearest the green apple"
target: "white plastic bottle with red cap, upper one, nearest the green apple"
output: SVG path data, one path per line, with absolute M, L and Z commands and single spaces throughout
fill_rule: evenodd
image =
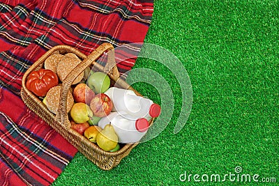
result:
M 160 105 L 153 103 L 152 100 L 136 95 L 131 90 L 111 87 L 107 94 L 114 103 L 113 111 L 125 111 L 130 116 L 138 118 L 156 118 L 160 115 Z

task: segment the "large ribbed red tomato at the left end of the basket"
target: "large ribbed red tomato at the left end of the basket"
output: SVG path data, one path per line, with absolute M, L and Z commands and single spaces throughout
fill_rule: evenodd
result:
M 27 89 L 43 97 L 53 86 L 58 85 L 58 77 L 52 70 L 40 69 L 33 71 L 27 77 Z

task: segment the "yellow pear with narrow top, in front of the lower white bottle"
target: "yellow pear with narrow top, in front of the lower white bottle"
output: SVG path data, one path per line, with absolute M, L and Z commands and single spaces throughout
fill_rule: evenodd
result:
M 97 144 L 105 151 L 114 149 L 118 144 L 118 137 L 111 124 L 105 125 L 104 129 L 97 135 Z

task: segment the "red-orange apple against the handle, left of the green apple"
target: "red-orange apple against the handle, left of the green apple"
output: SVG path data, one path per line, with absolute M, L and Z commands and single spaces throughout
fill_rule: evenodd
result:
M 90 104 L 95 93 L 86 84 L 77 84 L 73 90 L 75 102 L 84 102 Z

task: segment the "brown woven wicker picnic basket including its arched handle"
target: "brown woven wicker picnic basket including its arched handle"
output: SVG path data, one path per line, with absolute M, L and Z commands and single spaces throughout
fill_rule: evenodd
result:
M 109 52 L 110 51 L 110 52 Z M 45 104 L 43 104 L 42 100 L 36 95 L 33 95 L 31 91 L 29 91 L 26 87 L 27 77 L 28 75 L 34 71 L 43 68 L 43 64 L 45 59 L 52 54 L 59 52 L 59 54 L 66 53 L 74 53 L 80 59 L 82 59 L 82 63 L 77 65 L 77 67 L 70 72 L 70 74 L 66 77 L 66 79 L 62 83 L 61 88 L 61 96 L 59 102 L 59 111 L 55 116 L 52 112 L 50 112 Z M 103 67 L 99 63 L 96 63 L 96 60 L 100 58 L 103 54 L 107 52 L 108 61 L 107 65 Z M 110 77 L 111 82 L 114 86 L 119 88 L 126 88 L 133 90 L 137 95 L 140 95 L 134 88 L 132 88 L 129 84 L 127 84 L 123 79 L 119 78 L 119 72 L 116 68 L 115 60 L 114 60 L 114 47 L 109 43 L 103 43 L 97 49 L 95 49 L 89 56 L 82 54 L 77 49 L 67 46 L 67 45 L 58 45 L 56 47 L 52 47 L 49 51 L 47 51 L 43 56 L 33 63 L 29 70 L 25 72 L 24 77 L 22 79 L 22 100 L 27 107 L 29 107 L 32 111 L 34 111 L 40 118 L 48 123 L 51 127 L 54 128 L 59 134 L 61 134 L 70 144 L 73 144 L 77 150 L 80 151 L 83 155 L 85 155 L 89 160 L 95 163 L 100 169 L 110 170 L 122 160 L 123 157 L 126 157 L 130 150 L 132 150 L 138 143 L 135 144 L 123 144 L 120 150 L 116 152 L 107 152 L 98 147 L 98 145 L 93 144 L 91 141 L 86 139 L 81 134 L 77 133 L 75 130 L 70 128 L 70 121 L 68 119 L 68 113 L 66 112 L 66 96 L 68 91 L 70 90 L 71 84 L 77 75 L 85 70 L 86 67 L 92 67 L 95 71 L 106 72 Z M 153 118 L 149 121 L 151 125 L 153 123 Z

